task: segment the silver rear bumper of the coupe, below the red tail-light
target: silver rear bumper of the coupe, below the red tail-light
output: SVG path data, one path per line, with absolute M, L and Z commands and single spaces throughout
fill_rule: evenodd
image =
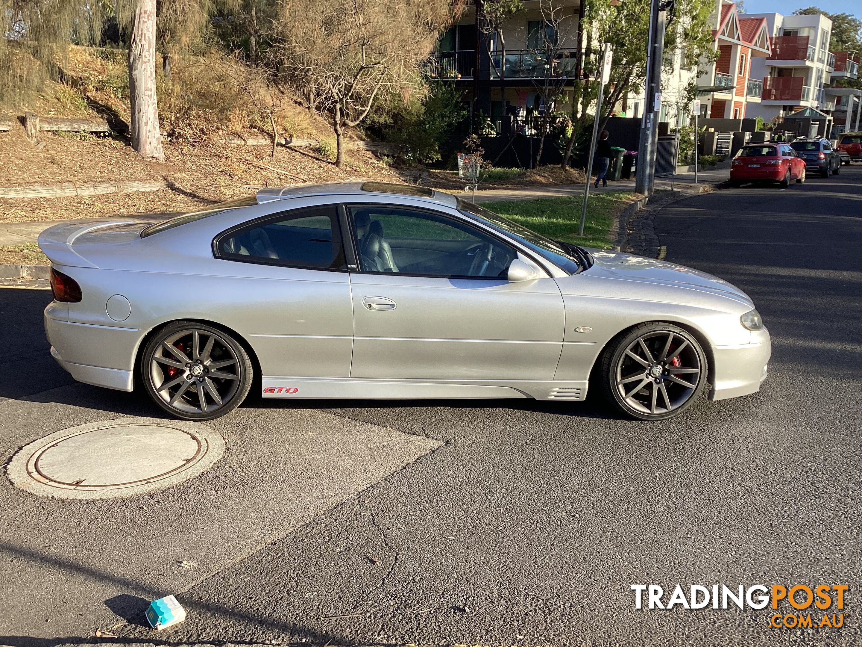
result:
M 134 354 L 144 331 L 44 317 L 51 355 L 75 380 L 118 391 L 133 390 Z

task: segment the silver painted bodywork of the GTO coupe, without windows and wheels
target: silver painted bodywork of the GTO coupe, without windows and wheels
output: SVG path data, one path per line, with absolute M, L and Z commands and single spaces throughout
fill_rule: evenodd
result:
M 258 200 L 153 236 L 141 237 L 152 221 L 134 217 L 43 232 L 39 243 L 53 266 L 83 292 L 80 303 L 46 309 L 53 356 L 76 380 L 130 391 L 147 334 L 193 319 L 247 342 L 264 397 L 584 399 L 609 341 L 663 321 L 701 340 L 710 398 L 753 393 L 765 378 L 769 334 L 740 324 L 751 299 L 709 274 L 595 251 L 592 267 L 569 275 L 515 239 L 509 244 L 546 278 L 450 280 L 215 258 L 213 240 L 223 231 L 322 204 L 415 206 L 500 236 L 441 192 L 420 198 L 342 184 L 268 189 Z M 122 322 L 108 314 L 114 295 L 132 305 Z

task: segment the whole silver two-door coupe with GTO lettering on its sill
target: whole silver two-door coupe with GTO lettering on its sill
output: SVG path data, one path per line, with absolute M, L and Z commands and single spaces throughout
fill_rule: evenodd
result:
M 687 267 L 555 242 L 447 193 L 267 189 L 169 220 L 63 223 L 51 353 L 178 418 L 265 398 L 582 400 L 670 418 L 759 389 L 753 303 Z

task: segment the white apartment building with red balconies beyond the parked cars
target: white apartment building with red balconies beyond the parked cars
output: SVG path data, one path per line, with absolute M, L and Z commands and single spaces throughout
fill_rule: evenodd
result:
M 805 108 L 829 116 L 835 108 L 825 91 L 836 61 L 829 52 L 832 21 L 821 15 L 747 17 L 765 19 L 771 39 L 769 56 L 753 61 L 752 77 L 763 79 L 763 93 L 748 116 L 769 121 Z

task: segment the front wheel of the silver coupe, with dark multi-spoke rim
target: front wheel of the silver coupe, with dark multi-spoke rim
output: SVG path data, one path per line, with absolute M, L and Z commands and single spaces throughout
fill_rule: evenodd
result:
M 638 324 L 616 336 L 602 359 L 605 398 L 630 418 L 665 420 L 693 405 L 707 385 L 707 359 L 688 330 Z

